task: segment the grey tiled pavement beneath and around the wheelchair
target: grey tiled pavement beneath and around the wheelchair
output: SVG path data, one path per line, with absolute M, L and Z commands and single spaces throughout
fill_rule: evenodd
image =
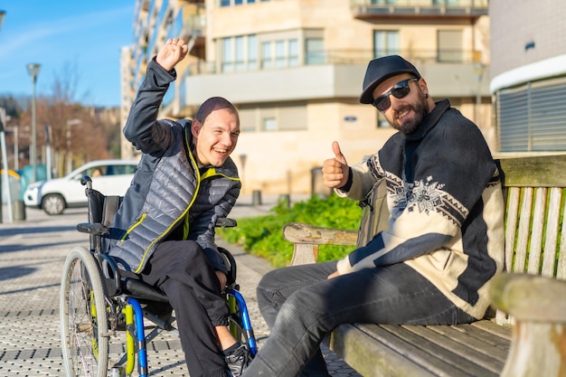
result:
M 305 199 L 291 197 L 291 201 Z M 231 217 L 269 213 L 278 196 L 262 198 L 252 205 L 251 196 L 242 196 Z M 40 210 L 26 209 L 25 221 L 0 223 L 0 376 L 63 376 L 59 331 L 59 295 L 62 266 L 74 246 L 88 247 L 88 236 L 76 231 L 86 221 L 85 209 L 67 210 L 61 216 L 48 216 Z M 219 240 L 234 254 L 238 263 L 241 293 L 250 309 L 251 324 L 259 349 L 269 329 L 255 298 L 259 278 L 271 269 L 268 262 L 239 247 Z M 110 358 L 116 358 L 119 342 L 111 342 Z M 333 376 L 359 376 L 334 353 L 324 349 Z M 160 335 L 148 344 L 149 375 L 188 376 L 181 344 L 173 335 Z M 137 373 L 135 372 L 136 376 Z

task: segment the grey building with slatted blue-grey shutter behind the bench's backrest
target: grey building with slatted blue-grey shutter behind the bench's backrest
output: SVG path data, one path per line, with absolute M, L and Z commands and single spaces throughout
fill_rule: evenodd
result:
M 566 7 L 497 0 L 489 14 L 497 150 L 566 151 Z

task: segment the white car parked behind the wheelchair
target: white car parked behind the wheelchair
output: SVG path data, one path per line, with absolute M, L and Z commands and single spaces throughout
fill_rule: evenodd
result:
M 66 208 L 86 207 L 83 175 L 92 178 L 92 188 L 105 195 L 124 195 L 137 169 L 137 161 L 99 160 L 73 170 L 62 178 L 28 185 L 24 193 L 27 207 L 43 209 L 48 214 L 61 214 Z

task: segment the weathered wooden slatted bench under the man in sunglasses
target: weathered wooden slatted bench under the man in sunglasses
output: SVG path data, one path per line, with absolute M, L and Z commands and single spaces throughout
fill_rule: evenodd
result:
M 566 376 L 566 156 L 498 165 L 506 272 L 490 288 L 494 310 L 471 325 L 338 326 L 328 344 L 363 376 Z M 363 221 L 383 227 L 389 213 L 380 191 Z M 295 243 L 294 265 L 316 262 L 321 244 L 363 244 L 359 231 L 289 223 L 283 233 Z

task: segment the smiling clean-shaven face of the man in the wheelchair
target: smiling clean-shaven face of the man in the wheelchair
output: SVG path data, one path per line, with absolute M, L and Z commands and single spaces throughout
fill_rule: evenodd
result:
M 221 166 L 232 153 L 240 136 L 238 115 L 229 108 L 214 108 L 201 122 L 191 126 L 199 165 Z

